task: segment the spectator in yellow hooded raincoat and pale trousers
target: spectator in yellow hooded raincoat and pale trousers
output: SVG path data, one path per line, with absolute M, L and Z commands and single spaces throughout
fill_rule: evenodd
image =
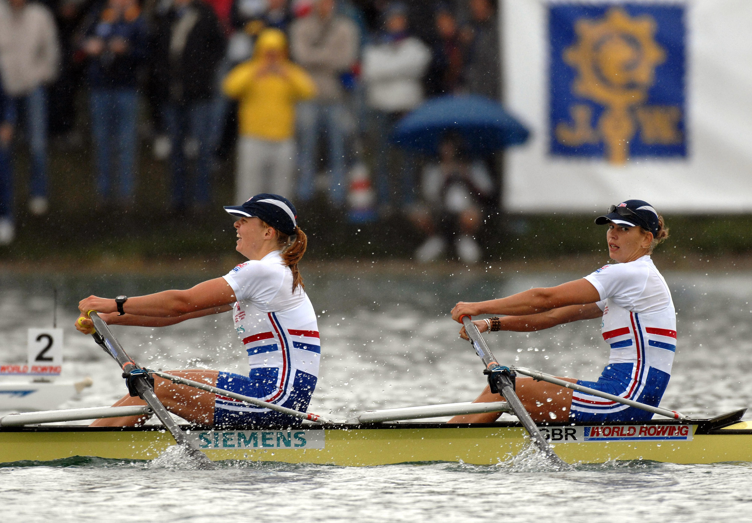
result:
M 248 195 L 293 192 L 295 106 L 316 95 L 314 80 L 287 58 L 287 38 L 264 29 L 253 58 L 227 74 L 223 89 L 240 102 L 236 203 Z

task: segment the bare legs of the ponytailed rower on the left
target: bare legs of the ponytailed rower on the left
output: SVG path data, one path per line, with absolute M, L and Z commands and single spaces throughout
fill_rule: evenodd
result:
M 193 381 L 217 385 L 218 370 L 169 370 L 168 374 L 180 376 Z M 199 390 L 188 385 L 173 383 L 167 379 L 154 376 L 154 391 L 156 397 L 167 410 L 177 414 L 191 423 L 211 425 L 214 423 L 214 394 Z M 145 405 L 146 402 L 138 396 L 126 395 L 120 398 L 113 407 L 129 405 Z M 126 416 L 122 418 L 102 418 L 93 422 L 89 427 L 135 427 L 144 425 L 149 416 Z

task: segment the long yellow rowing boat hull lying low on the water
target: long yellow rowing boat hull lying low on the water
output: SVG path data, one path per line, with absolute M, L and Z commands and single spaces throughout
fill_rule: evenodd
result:
M 618 440 L 617 437 L 616 440 L 591 438 L 584 441 L 583 433 L 579 432 L 578 437 L 572 437 L 566 443 L 552 441 L 552 444 L 560 458 L 573 464 L 638 459 L 679 464 L 752 461 L 752 424 L 747 422 L 711 430 L 702 424 L 676 422 L 613 427 L 620 427 L 614 428 L 617 436 L 636 434 L 643 428 L 647 437 L 649 433 L 644 428 L 655 432 L 650 428 L 653 425 L 659 428 L 673 426 L 671 431 L 676 431 L 676 434 L 683 430 L 684 439 Z M 556 434 L 567 428 L 565 425 L 561 427 L 558 433 L 552 429 L 553 440 L 556 440 Z M 574 434 L 575 429 L 570 430 Z M 603 428 L 599 430 L 602 437 Z M 190 431 L 190 437 L 214 461 L 280 461 L 353 467 L 417 461 L 498 464 L 525 448 L 525 435 L 523 428 L 511 423 L 472 427 L 403 423 L 378 428 L 338 425 L 298 431 Z M 0 463 L 52 461 L 71 456 L 148 460 L 156 458 L 173 444 L 169 433 L 154 428 L 2 428 Z

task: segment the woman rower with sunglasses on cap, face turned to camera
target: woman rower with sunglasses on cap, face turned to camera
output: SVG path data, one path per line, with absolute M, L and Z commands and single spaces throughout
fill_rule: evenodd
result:
M 481 332 L 540 331 L 578 319 L 602 318 L 603 339 L 611 358 L 597 382 L 562 378 L 611 395 L 657 406 L 671 375 L 676 349 L 676 313 L 666 280 L 650 253 L 669 236 L 663 216 L 641 200 L 612 205 L 596 224 L 608 224 L 606 241 L 611 258 L 581 280 L 478 303 L 459 302 L 452 319 L 479 314 L 506 315 L 475 320 Z M 467 339 L 465 328 L 459 331 Z M 517 378 L 517 395 L 537 422 L 626 422 L 650 419 L 651 413 L 596 398 L 532 378 Z M 499 401 L 488 387 L 476 402 Z M 487 423 L 498 413 L 456 416 L 451 422 Z

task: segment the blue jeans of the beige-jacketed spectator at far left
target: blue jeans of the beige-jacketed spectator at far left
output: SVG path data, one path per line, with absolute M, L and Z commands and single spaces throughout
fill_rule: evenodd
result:
M 47 90 L 38 86 L 27 95 L 13 98 L 15 115 L 26 114 L 26 134 L 29 137 L 29 152 L 32 156 L 32 176 L 29 192 L 47 197 Z M 12 123 L 16 123 L 15 121 Z

